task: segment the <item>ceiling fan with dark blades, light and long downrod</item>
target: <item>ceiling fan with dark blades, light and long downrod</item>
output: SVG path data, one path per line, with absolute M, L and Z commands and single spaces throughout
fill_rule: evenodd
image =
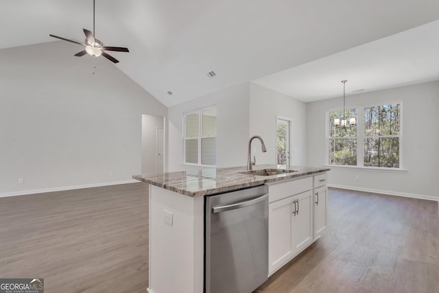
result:
M 68 38 L 62 38 L 60 36 L 55 36 L 53 34 L 49 34 L 49 36 L 52 36 L 54 38 L 59 38 L 60 40 L 67 40 L 67 42 L 75 43 L 78 45 L 83 45 L 85 47 L 85 49 L 83 51 L 80 51 L 77 54 L 75 54 L 75 56 L 78 56 L 78 57 L 84 56 L 85 54 L 88 54 L 90 56 L 95 56 L 95 57 L 102 55 L 105 58 L 107 58 L 108 60 L 110 60 L 111 62 L 117 63 L 117 62 L 119 62 L 119 60 L 106 54 L 105 51 L 129 52 L 128 48 L 124 48 L 124 47 L 104 46 L 104 44 L 100 40 L 95 38 L 95 0 L 93 0 L 93 33 L 90 32 L 89 30 L 86 30 L 86 29 L 82 29 L 82 30 L 84 31 L 84 34 L 85 34 L 84 43 L 80 43 L 77 40 L 69 40 Z

